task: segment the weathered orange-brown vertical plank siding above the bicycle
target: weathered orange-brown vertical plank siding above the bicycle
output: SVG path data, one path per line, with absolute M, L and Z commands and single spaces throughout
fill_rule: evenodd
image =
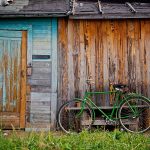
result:
M 58 32 L 59 104 L 83 96 L 90 75 L 96 91 L 115 82 L 150 97 L 150 20 L 59 19 Z

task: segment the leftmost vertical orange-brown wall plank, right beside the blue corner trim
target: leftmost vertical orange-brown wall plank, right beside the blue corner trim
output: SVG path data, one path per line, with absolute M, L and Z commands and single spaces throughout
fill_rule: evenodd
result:
M 58 105 L 60 106 L 68 99 L 68 20 L 64 18 L 58 20 L 58 33 Z

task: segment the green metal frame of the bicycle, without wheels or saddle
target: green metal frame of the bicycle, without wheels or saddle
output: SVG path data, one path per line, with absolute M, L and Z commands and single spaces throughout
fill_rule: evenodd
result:
M 115 94 L 115 97 L 114 97 L 114 100 L 115 100 L 115 103 L 113 105 L 113 108 L 112 108 L 112 111 L 110 113 L 110 115 L 107 115 L 100 107 L 98 107 L 93 101 L 91 98 L 89 98 L 90 96 L 92 95 L 106 95 L 106 94 Z M 78 98 L 76 98 L 78 99 Z M 115 121 L 119 118 L 117 118 L 117 112 L 119 110 L 119 106 L 120 104 L 123 102 L 124 100 L 124 94 L 123 92 L 121 91 L 107 91 L 107 92 L 85 92 L 85 95 L 82 99 L 83 103 L 82 103 L 82 106 L 81 106 L 81 110 L 79 112 L 78 115 L 81 115 L 84 108 L 85 108 L 85 103 L 88 103 L 90 108 L 92 109 L 93 111 L 93 120 L 95 120 L 95 111 L 94 109 L 96 108 L 97 110 L 99 110 L 108 120 L 112 120 L 112 121 Z M 116 116 L 116 118 L 114 118 L 113 116 Z

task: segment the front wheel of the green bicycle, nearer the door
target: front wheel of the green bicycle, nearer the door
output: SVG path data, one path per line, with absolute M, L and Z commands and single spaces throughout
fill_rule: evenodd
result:
M 60 128 L 66 133 L 89 130 L 92 124 L 92 110 L 82 100 L 68 101 L 60 107 L 57 120 Z

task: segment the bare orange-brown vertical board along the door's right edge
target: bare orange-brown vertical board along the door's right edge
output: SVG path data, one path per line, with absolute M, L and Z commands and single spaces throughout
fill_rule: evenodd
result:
M 27 66 L 27 32 L 22 31 L 22 57 L 21 57 L 21 104 L 20 104 L 20 128 L 25 128 L 26 112 L 26 66 Z

